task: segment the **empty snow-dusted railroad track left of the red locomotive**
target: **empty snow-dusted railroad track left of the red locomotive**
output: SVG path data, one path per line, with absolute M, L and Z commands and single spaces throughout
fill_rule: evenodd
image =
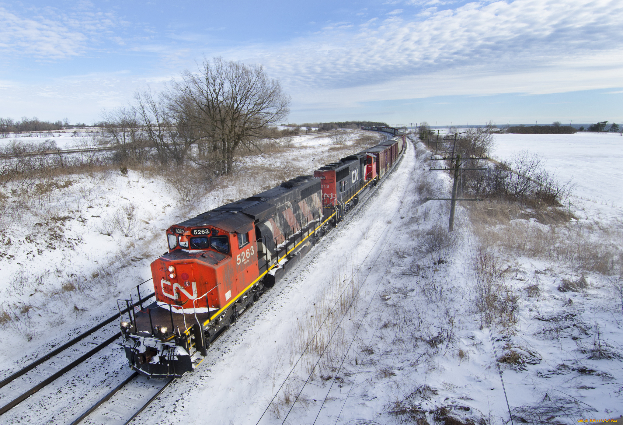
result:
M 146 282 L 143 282 L 143 284 Z M 132 307 L 142 305 L 143 302 L 153 296 L 154 294 L 150 294 L 140 298 Z M 2 379 L 0 381 L 0 405 L 2 406 L 0 407 L 0 415 L 8 412 L 32 396 L 32 394 L 37 393 L 40 389 L 54 382 L 60 376 L 65 375 L 65 373 L 120 338 L 121 332 L 115 332 L 114 327 L 105 327 L 120 318 L 121 314 L 127 311 L 128 308 L 121 310 L 120 313 L 98 323 L 86 332 Z M 101 330 L 99 335 L 93 335 L 98 330 Z M 10 401 L 7 402 L 6 400 Z

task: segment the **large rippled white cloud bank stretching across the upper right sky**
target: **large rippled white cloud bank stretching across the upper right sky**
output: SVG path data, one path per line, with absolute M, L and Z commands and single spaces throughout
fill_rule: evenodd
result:
M 470 2 L 424 19 L 391 17 L 358 31 L 321 32 L 227 56 L 265 65 L 293 96 L 314 102 L 444 93 L 555 93 L 620 87 L 623 9 L 597 0 Z M 340 22 L 340 24 L 343 24 Z M 332 26 L 335 31 L 337 26 Z

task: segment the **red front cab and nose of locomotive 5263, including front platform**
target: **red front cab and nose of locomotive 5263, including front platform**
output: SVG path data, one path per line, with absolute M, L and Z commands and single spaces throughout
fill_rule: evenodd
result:
M 259 292 L 239 296 L 258 275 L 253 220 L 235 212 L 209 215 L 213 222 L 206 216 L 171 226 L 169 251 L 151 263 L 156 301 L 135 312 L 124 331 L 131 367 L 145 375 L 193 370 Z

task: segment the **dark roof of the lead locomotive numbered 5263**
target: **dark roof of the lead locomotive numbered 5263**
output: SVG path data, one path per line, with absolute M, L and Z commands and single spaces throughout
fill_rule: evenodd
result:
M 179 223 L 179 226 L 214 226 L 227 232 L 245 229 L 254 220 L 262 220 L 277 212 L 287 201 L 301 201 L 302 192 L 320 191 L 320 179 L 300 176 L 262 193 L 214 208 Z M 307 191 L 305 190 L 307 189 Z M 246 231 L 246 230 L 245 230 Z

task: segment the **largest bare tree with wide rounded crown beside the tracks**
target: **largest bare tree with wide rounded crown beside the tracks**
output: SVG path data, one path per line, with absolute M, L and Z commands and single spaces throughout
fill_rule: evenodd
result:
M 289 112 L 290 97 L 258 65 L 204 58 L 198 73 L 186 70 L 181 77 L 166 93 L 168 108 L 209 158 L 209 164 L 201 155 L 197 162 L 217 174 L 231 173 L 237 150 L 257 148 L 269 125 Z

